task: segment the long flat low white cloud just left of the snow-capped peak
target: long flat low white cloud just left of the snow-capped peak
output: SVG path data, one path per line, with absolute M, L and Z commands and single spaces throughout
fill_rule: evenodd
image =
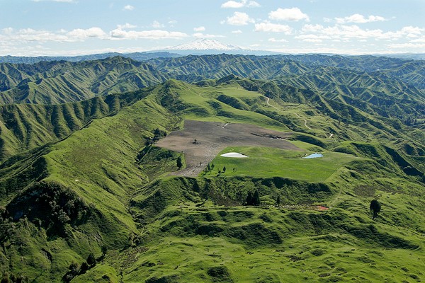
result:
M 115 40 L 137 40 L 137 39 L 150 39 L 150 40 L 161 40 L 161 39 L 183 39 L 188 37 L 186 33 L 177 31 L 167 30 L 111 30 L 111 39 Z

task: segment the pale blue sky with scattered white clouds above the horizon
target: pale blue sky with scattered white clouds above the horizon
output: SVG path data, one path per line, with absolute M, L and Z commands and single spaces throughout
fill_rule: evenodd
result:
M 164 50 L 425 53 L 425 0 L 0 0 L 0 56 Z

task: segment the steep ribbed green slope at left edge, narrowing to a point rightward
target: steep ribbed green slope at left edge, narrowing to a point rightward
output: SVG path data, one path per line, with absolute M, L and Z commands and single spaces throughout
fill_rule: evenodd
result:
M 61 105 L 0 105 L 0 161 L 20 151 L 63 139 L 96 118 L 114 115 L 120 108 L 147 96 L 149 91 L 98 96 Z

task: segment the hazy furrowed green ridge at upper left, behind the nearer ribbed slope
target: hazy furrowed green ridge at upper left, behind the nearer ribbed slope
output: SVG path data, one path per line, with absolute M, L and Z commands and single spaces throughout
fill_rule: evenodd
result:
M 136 91 L 168 76 L 142 62 L 111 57 L 86 62 L 0 64 L 0 103 L 59 104 Z M 3 81 L 3 80 L 2 80 Z

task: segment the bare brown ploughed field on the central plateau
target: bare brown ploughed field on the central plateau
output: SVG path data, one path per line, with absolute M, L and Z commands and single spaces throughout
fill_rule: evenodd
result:
M 156 145 L 184 153 L 186 168 L 174 175 L 196 177 L 227 146 L 268 146 L 300 150 L 285 141 L 290 135 L 290 132 L 278 132 L 255 125 L 186 120 L 183 130 L 171 132 Z

